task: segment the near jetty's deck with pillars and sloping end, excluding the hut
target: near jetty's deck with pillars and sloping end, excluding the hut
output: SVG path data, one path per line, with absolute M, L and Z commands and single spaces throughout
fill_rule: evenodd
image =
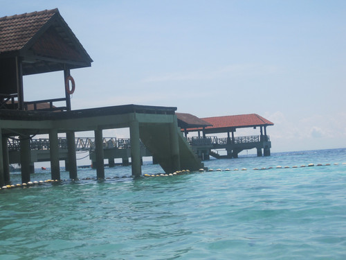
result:
M 19 136 L 21 173 L 23 182 L 30 180 L 30 137 L 49 134 L 51 171 L 53 179 L 60 179 L 58 133 L 67 135 L 67 150 L 71 178 L 77 177 L 75 137 L 78 131 L 95 132 L 95 162 L 97 175 L 104 178 L 104 149 L 102 130 L 129 128 L 131 138 L 132 174 L 141 174 L 140 140 L 156 158 L 166 173 L 180 169 L 198 170 L 203 166 L 194 155 L 178 128 L 175 107 L 122 105 L 66 112 L 0 110 L 3 165 L 9 164 L 7 138 Z M 6 145 L 5 145 L 6 144 Z M 7 152 L 8 154 L 8 152 Z M 9 177 L 4 171 L 4 180 Z M 1 177 L 1 176 L 0 176 Z

